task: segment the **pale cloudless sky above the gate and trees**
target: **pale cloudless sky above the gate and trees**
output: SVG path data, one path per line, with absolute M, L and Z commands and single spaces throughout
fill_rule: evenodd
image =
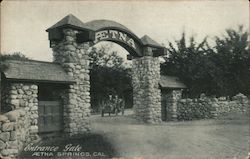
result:
M 60 1 L 6 0 L 1 3 L 1 53 L 21 52 L 52 61 L 47 28 L 68 14 L 82 22 L 108 19 L 138 37 L 147 34 L 160 44 L 180 38 L 183 31 L 197 41 L 223 35 L 226 28 L 249 28 L 248 0 L 187 1 Z M 106 43 L 100 44 L 106 45 Z M 120 46 L 113 49 L 127 54 Z

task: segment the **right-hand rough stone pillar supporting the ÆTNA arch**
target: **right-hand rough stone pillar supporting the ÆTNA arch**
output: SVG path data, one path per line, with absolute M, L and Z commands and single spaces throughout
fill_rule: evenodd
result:
M 161 122 L 160 62 L 144 56 L 132 61 L 134 115 L 143 122 Z

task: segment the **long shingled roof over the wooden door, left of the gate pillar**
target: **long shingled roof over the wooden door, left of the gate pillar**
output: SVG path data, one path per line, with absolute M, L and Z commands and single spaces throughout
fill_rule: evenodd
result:
M 67 75 L 63 68 L 52 62 L 42 61 L 5 61 L 8 69 L 3 74 L 7 80 L 35 81 L 52 83 L 73 83 L 74 79 Z

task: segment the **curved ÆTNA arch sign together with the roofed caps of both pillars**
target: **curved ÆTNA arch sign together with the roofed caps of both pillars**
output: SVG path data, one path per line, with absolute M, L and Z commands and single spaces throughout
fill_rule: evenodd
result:
M 58 41 L 63 38 L 62 28 L 71 27 L 79 30 L 76 40 L 79 43 L 92 42 L 97 44 L 101 41 L 111 41 L 125 48 L 132 56 L 142 57 L 145 47 L 151 47 L 153 56 L 164 53 L 164 47 L 152 40 L 149 36 L 138 38 L 125 26 L 110 20 L 94 20 L 87 23 L 81 22 L 73 15 L 68 15 L 61 21 L 47 29 L 49 39 Z

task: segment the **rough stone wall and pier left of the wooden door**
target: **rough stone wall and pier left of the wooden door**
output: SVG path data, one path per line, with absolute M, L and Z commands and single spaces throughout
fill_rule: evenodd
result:
M 9 112 L 0 115 L 0 154 L 14 158 L 26 143 L 38 136 L 38 86 L 28 83 L 9 83 L 4 99 Z M 7 110 L 5 108 L 5 110 Z

